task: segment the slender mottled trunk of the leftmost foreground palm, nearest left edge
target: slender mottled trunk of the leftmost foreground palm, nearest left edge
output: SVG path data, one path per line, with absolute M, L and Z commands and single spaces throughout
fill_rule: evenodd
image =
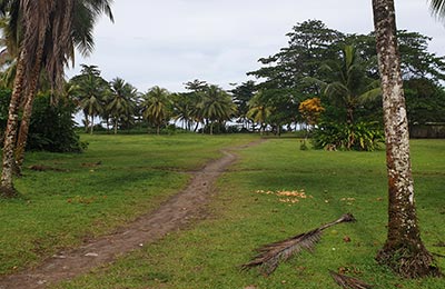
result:
M 13 83 L 13 90 L 11 94 L 11 102 L 9 103 L 8 122 L 4 131 L 3 160 L 2 160 L 2 171 L 0 180 L 0 193 L 3 197 L 17 196 L 12 182 L 12 175 L 16 166 L 14 148 L 16 148 L 17 130 L 19 126 L 19 106 L 24 87 L 23 59 L 26 58 L 26 54 L 27 51 L 26 49 L 23 49 L 20 52 L 19 60 L 17 63 L 17 71 Z

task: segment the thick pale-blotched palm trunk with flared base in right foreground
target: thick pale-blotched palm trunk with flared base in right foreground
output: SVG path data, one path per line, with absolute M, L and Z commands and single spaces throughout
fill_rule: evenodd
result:
M 388 232 L 376 259 L 406 278 L 439 275 L 422 242 L 414 201 L 409 136 L 396 39 L 394 0 L 373 0 L 388 175 Z

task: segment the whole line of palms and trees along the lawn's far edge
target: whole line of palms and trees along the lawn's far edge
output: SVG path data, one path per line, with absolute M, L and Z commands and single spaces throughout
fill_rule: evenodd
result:
M 98 67 L 83 64 L 57 96 L 42 74 L 39 96 L 48 99 L 48 106 L 55 99 L 63 99 L 59 109 L 66 108 L 68 114 L 80 112 L 80 124 L 89 133 L 162 133 L 168 128 L 165 131 L 280 134 L 283 130 L 303 129 L 310 132 L 319 148 L 333 144 L 375 149 L 383 133 L 374 34 L 346 34 L 322 21 L 308 20 L 297 23 L 287 37 L 287 47 L 259 59 L 261 67 L 248 72 L 257 82 L 249 80 L 230 90 L 196 79 L 185 83 L 186 92 L 160 87 L 139 92 L 126 80 L 106 80 Z M 428 52 L 431 38 L 426 36 L 402 30 L 398 38 L 409 123 L 445 122 L 445 92 L 441 84 L 445 77 L 444 58 Z M 12 84 L 14 62 L 7 58 L 2 61 L 1 86 L 8 88 Z M 317 118 L 308 118 L 312 112 L 305 108 L 310 106 L 303 106 L 310 104 L 307 101 L 313 99 L 317 100 L 313 102 L 318 106 Z M 7 106 L 8 101 L 1 100 L 0 104 Z M 7 108 L 1 109 L 6 109 L 0 116 L 4 127 L 8 113 Z M 72 117 L 62 122 L 75 123 Z M 58 136 L 43 136 L 43 131 L 31 126 L 30 136 L 34 138 L 31 137 L 28 148 L 65 151 L 82 147 L 79 142 L 52 148 L 48 143 L 58 143 L 51 140 Z

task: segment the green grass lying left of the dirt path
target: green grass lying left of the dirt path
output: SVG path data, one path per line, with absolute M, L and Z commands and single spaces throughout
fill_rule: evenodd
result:
M 255 137 L 88 136 L 80 155 L 31 152 L 21 196 L 0 199 L 0 275 L 37 265 L 61 248 L 107 233 L 180 190 L 185 173 Z M 99 166 L 93 166 L 101 162 Z M 41 165 L 68 171 L 33 171 Z

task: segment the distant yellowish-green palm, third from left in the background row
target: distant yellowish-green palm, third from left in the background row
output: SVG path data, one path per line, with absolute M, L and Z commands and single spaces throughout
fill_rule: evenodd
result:
M 170 120 L 171 102 L 169 97 L 170 92 L 160 87 L 154 87 L 142 96 L 142 116 L 156 126 L 157 134 L 160 132 L 160 127 Z

